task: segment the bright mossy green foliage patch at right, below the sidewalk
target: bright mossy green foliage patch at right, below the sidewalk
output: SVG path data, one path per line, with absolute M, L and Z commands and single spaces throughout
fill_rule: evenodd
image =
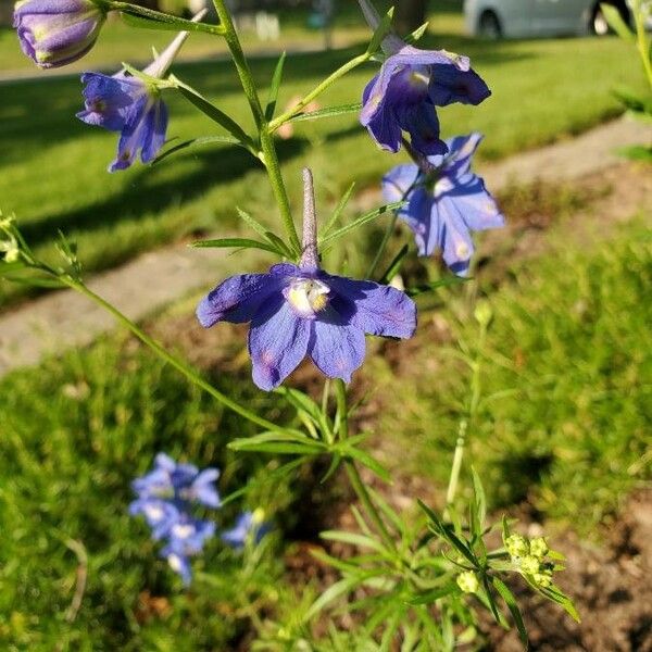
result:
M 637 221 L 610 236 L 579 251 L 560 235 L 488 296 L 482 399 L 467 436 L 491 506 L 527 499 L 582 532 L 650 478 L 652 240 Z M 440 321 L 473 350 L 477 326 L 447 297 Z M 454 447 L 471 369 L 459 351 L 428 340 L 419 340 L 428 362 L 401 377 L 400 409 L 393 394 L 380 398 L 381 429 L 414 451 L 413 468 L 444 482 L 442 451 Z

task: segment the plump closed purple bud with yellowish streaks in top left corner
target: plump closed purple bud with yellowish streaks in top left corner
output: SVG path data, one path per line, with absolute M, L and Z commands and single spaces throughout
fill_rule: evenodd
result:
M 14 27 L 23 52 L 43 68 L 66 65 L 95 45 L 106 11 L 93 0 L 20 0 Z

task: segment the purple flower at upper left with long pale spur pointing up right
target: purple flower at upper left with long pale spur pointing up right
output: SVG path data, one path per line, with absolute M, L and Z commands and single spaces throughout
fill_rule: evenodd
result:
M 201 12 L 193 20 L 199 20 Z M 163 145 L 167 131 L 167 108 L 161 99 L 155 79 L 162 79 L 174 58 L 188 37 L 181 32 L 167 49 L 145 68 L 146 77 L 137 77 L 122 71 L 113 76 L 101 73 L 84 73 L 85 109 L 77 117 L 89 125 L 120 131 L 117 156 L 109 172 L 129 167 L 138 152 L 143 163 L 153 161 Z M 148 79 L 148 77 L 150 79 Z

